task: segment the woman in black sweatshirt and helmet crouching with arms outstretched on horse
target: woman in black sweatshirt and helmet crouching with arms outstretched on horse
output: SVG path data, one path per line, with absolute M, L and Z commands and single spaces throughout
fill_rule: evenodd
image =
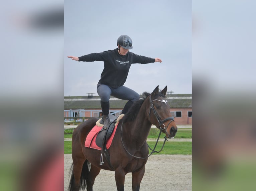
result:
M 104 69 L 97 86 L 97 93 L 101 98 L 104 127 L 110 124 L 108 116 L 110 95 L 128 100 L 122 110 L 122 114 L 125 114 L 133 102 L 140 98 L 138 93 L 124 86 L 131 64 L 162 62 L 159 58 L 153 59 L 130 52 L 129 50 L 133 48 L 132 39 L 127 35 L 121 35 L 117 39 L 117 46 L 118 48 L 114 50 L 102 53 L 92 53 L 81 57 L 68 56 L 72 60 L 83 62 L 104 61 Z

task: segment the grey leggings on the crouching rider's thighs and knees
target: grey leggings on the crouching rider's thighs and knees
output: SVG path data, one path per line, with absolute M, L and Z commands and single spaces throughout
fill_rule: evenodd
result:
M 98 84 L 97 86 L 97 93 L 101 97 L 101 101 L 108 102 L 110 95 L 123 99 L 123 100 L 130 100 L 132 102 L 139 100 L 140 95 L 135 91 L 127 88 L 125 86 L 120 86 L 118 88 L 111 88 L 105 84 Z

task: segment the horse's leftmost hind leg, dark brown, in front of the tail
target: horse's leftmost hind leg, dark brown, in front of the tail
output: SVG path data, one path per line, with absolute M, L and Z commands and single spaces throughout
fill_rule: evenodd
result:
M 75 178 L 74 191 L 78 191 L 80 189 L 80 186 L 81 186 L 80 178 L 81 178 L 84 162 L 85 162 L 85 158 L 73 159 L 73 163 L 74 163 L 73 174 Z

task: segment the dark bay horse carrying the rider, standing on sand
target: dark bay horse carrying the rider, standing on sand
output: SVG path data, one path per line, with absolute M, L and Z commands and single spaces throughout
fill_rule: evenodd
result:
M 135 102 L 121 119 L 108 149 L 113 169 L 107 162 L 100 165 L 100 150 L 85 147 L 86 136 L 99 118 L 90 118 L 74 130 L 70 191 L 93 190 L 94 180 L 101 169 L 115 171 L 118 191 L 124 190 L 125 175 L 129 172 L 132 173 L 133 191 L 140 189 L 149 154 L 146 141 L 151 125 L 156 125 L 168 138 L 173 138 L 177 132 L 165 100 L 166 91 L 167 86 L 161 92 L 157 86 L 151 94 L 144 93 L 144 98 Z

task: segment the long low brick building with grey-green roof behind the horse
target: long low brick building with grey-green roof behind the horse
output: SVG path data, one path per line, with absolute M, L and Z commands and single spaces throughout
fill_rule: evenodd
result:
M 169 94 L 166 95 L 170 105 L 170 113 L 175 118 L 177 125 L 192 124 L 192 95 Z M 110 113 L 119 115 L 126 100 L 110 97 Z M 65 96 L 65 117 L 100 117 L 102 116 L 99 96 Z

